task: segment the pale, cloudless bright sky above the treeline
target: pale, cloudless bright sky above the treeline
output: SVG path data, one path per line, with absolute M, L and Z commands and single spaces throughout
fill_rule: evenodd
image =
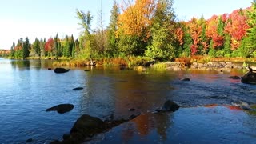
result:
M 122 0 L 117 0 L 122 2 Z M 174 10 L 179 20 L 193 16 L 210 18 L 213 14 L 231 13 L 238 8 L 250 6 L 252 0 L 174 0 Z M 102 0 L 104 25 L 110 18 L 113 0 Z M 6 0 L 0 2 L 0 49 L 10 49 L 19 38 L 50 38 L 57 33 L 60 38 L 66 34 L 79 35 L 75 10 L 88 11 L 94 16 L 96 29 L 101 0 Z

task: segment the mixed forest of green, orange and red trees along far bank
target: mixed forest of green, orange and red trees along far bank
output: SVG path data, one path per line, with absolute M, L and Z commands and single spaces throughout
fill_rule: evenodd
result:
M 158 62 L 195 55 L 213 58 L 256 58 L 256 2 L 230 14 L 209 19 L 178 21 L 173 0 L 135 0 L 110 10 L 110 23 L 103 28 L 102 10 L 98 29 L 92 30 L 90 11 L 76 10 L 82 28 L 79 38 L 18 39 L 10 58 L 101 59 L 140 57 Z

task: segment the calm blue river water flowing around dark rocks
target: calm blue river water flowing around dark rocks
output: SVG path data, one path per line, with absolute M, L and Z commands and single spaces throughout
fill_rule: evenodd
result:
M 0 143 L 62 140 L 82 114 L 105 120 L 138 113 L 137 118 L 98 134 L 90 143 L 256 142 L 256 116 L 230 106 L 236 101 L 256 103 L 256 86 L 228 78 L 246 71 L 138 72 L 88 67 L 54 74 L 49 67 L 54 68 L 47 60 L 0 58 Z M 84 89 L 72 90 L 75 87 Z M 174 113 L 154 114 L 168 99 L 182 107 Z M 61 103 L 74 104 L 74 109 L 66 114 L 45 111 Z

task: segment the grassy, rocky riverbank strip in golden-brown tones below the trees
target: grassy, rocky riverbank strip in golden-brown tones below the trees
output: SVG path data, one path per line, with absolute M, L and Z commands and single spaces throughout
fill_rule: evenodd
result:
M 127 57 L 127 58 L 94 58 L 94 59 L 72 59 L 72 58 L 26 58 L 26 59 L 47 59 L 54 60 L 53 66 L 58 67 L 120 67 L 134 69 L 138 71 L 146 70 L 146 67 L 155 70 L 217 70 L 219 72 L 232 69 L 243 70 L 250 65 L 254 68 L 256 58 L 210 58 L 194 56 L 190 58 L 175 58 L 170 62 L 158 62 L 147 57 Z

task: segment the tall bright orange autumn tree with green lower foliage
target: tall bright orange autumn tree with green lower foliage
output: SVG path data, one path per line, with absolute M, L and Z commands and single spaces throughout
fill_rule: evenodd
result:
M 143 55 L 150 37 L 150 24 L 154 15 L 154 0 L 126 2 L 118 17 L 118 48 L 126 55 Z

